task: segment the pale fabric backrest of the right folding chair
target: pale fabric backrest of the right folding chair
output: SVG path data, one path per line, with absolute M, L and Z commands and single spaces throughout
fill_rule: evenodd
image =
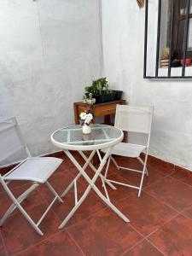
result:
M 114 126 L 123 131 L 150 134 L 154 107 L 118 105 Z

